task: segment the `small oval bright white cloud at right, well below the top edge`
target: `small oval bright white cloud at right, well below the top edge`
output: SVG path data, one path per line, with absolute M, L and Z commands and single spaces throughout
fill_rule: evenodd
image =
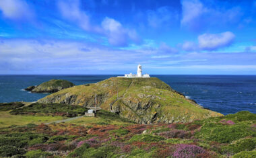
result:
M 202 50 L 216 50 L 224 46 L 229 46 L 234 41 L 234 37 L 232 32 L 202 34 L 198 36 L 199 48 Z

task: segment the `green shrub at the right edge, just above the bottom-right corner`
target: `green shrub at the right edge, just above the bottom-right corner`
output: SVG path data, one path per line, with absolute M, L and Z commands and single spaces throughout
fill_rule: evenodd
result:
M 239 153 L 241 151 L 252 151 L 256 147 L 256 138 L 241 139 L 232 145 L 222 148 L 223 153 Z

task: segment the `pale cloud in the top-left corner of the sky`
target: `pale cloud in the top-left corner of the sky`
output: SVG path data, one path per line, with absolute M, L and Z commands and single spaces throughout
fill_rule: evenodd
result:
M 3 16 L 9 19 L 24 20 L 34 17 L 34 11 L 32 11 L 26 1 L 22 0 L 1 0 L 0 10 Z

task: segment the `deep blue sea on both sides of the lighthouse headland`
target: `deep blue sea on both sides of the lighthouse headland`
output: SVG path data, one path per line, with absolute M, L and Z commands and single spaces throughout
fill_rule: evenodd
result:
M 34 102 L 49 93 L 30 93 L 24 88 L 50 79 L 81 85 L 117 75 L 0 75 L 0 102 Z M 256 114 L 256 75 L 152 75 L 204 108 L 222 114 L 248 110 Z

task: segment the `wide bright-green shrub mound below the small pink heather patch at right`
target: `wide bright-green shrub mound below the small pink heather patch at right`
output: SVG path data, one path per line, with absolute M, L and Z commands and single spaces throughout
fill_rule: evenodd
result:
M 205 123 L 201 129 L 195 133 L 199 139 L 216 141 L 218 143 L 230 143 L 246 136 L 253 136 L 253 131 L 247 124 L 223 125 Z

